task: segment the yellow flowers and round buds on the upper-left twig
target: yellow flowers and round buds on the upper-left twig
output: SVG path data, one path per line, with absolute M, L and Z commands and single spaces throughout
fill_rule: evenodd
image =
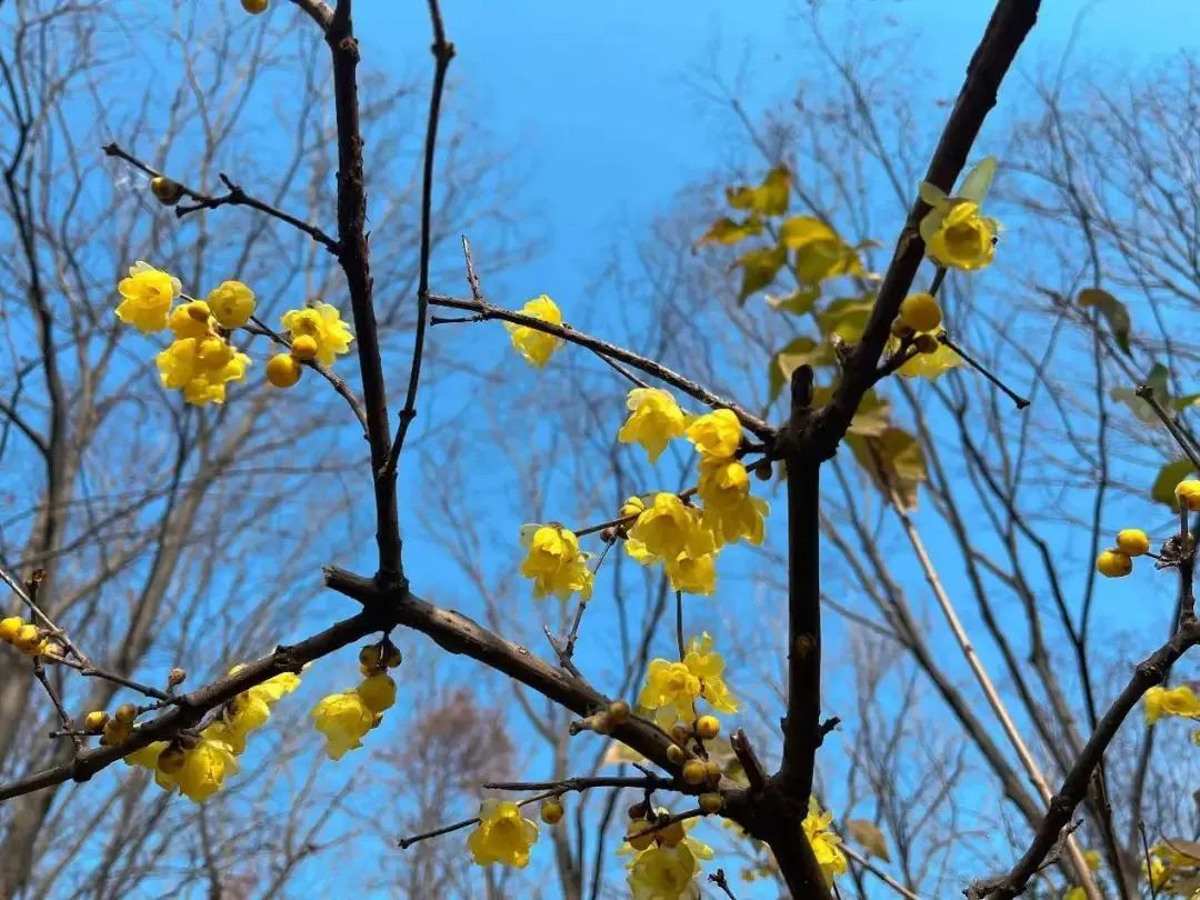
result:
M 179 390 L 196 406 L 223 403 L 227 385 L 246 378 L 250 356 L 234 347 L 233 334 L 245 328 L 254 314 L 254 292 L 240 281 L 226 281 L 204 300 L 184 294 L 175 276 L 138 262 L 116 286 L 121 301 L 116 317 L 149 335 L 169 329 L 173 340 L 156 358 L 164 388 Z M 175 300 L 182 302 L 174 305 Z M 347 353 L 353 340 L 337 310 L 314 304 L 289 310 L 282 318 L 290 332 L 289 353 L 272 356 L 266 364 L 268 380 L 287 388 L 300 379 L 301 364 L 317 360 L 331 365 Z

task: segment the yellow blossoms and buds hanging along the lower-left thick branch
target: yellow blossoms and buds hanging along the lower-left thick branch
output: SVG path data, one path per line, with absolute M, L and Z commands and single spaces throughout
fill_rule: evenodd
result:
M 236 674 L 242 666 L 234 666 Z M 246 750 L 246 736 L 263 727 L 271 706 L 294 691 L 300 677 L 283 672 L 242 691 L 226 703 L 216 720 L 199 732 L 181 732 L 170 740 L 155 740 L 125 757 L 127 766 L 142 766 L 154 772 L 155 784 L 164 791 L 178 791 L 193 803 L 203 803 L 224 785 L 227 775 L 238 772 L 238 756 Z M 136 732 L 138 710 L 124 703 L 109 718 L 103 712 L 89 713 L 85 727 L 101 733 L 101 743 L 120 746 Z

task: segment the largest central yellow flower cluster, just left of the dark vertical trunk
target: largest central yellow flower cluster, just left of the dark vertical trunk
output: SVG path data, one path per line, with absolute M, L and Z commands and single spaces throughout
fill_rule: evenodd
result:
M 661 564 L 674 590 L 712 594 L 720 548 L 763 540 L 768 506 L 750 494 L 750 473 L 737 458 L 742 424 L 730 409 L 688 415 L 665 390 L 635 388 L 626 404 L 630 415 L 617 439 L 641 444 L 650 461 L 674 438 L 691 442 L 700 456 L 695 493 L 703 505 L 666 492 L 630 497 L 620 510 L 623 520 L 632 520 L 622 532 L 625 552 L 642 565 Z

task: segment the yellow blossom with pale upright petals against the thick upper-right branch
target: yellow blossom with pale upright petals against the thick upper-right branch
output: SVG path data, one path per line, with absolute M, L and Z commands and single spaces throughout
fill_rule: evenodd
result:
M 932 209 L 920 220 L 920 238 L 925 252 L 938 265 L 954 269 L 983 269 L 996 252 L 1000 223 L 979 210 L 996 170 L 996 161 L 985 158 L 964 179 L 954 197 L 928 181 L 920 185 L 920 198 Z

